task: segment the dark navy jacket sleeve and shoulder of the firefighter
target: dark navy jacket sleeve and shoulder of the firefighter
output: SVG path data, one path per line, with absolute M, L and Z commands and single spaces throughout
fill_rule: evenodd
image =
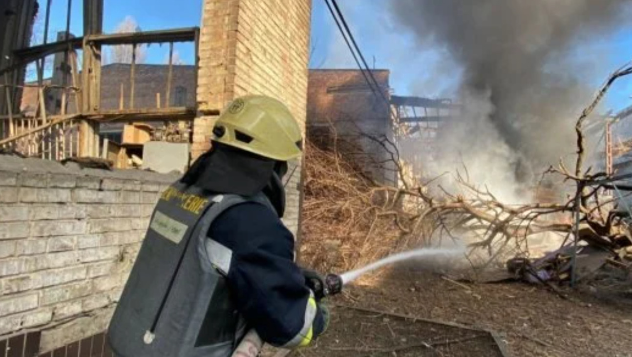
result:
M 233 251 L 229 290 L 246 322 L 265 342 L 284 346 L 303 328 L 310 291 L 294 262 L 294 238 L 275 212 L 242 203 L 219 215 L 209 237 Z M 324 329 L 320 308 L 313 336 Z

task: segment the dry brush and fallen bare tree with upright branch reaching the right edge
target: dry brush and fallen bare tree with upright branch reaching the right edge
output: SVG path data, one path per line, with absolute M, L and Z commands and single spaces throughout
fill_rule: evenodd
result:
M 626 214 L 617 210 L 616 199 L 604 196 L 610 177 L 584 167 L 583 133 L 586 119 L 612 83 L 631 73 L 629 65 L 613 73 L 581 112 L 573 171 L 560 160 L 544 172 L 576 186 L 566 202 L 503 203 L 486 187 L 471 183 L 465 166 L 453 173 L 452 190 L 435 185 L 435 179 L 424 183 L 411 178 L 394 143 L 365 135 L 391 155 L 398 171 L 401 185 L 380 185 L 363 174 L 361 162 L 351 162 L 339 150 L 353 143 L 338 145 L 336 136 L 332 147 L 308 143 L 301 260 L 324 270 L 350 269 L 394 251 L 464 236 L 466 258 L 479 258 L 471 262 L 476 267 L 499 262 L 507 251 L 528 257 L 529 239 L 538 234 L 561 236 L 562 246 L 573 238 L 612 252 L 631 245 Z M 482 251 L 485 258 L 480 260 Z

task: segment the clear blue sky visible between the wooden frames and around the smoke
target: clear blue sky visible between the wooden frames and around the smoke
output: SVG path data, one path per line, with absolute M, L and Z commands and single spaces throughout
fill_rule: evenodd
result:
M 53 0 L 51 35 L 65 28 L 67 0 Z M 393 0 L 391 0 L 393 1 Z M 43 3 L 43 2 L 42 2 Z M 395 94 L 445 97 L 458 86 L 459 68 L 445 49 L 420 49 L 413 36 L 394 23 L 383 0 L 339 0 L 349 26 L 370 66 L 391 70 Z M 126 16 L 132 16 L 142 30 L 199 26 L 202 0 L 105 0 L 104 31 L 113 32 Z M 71 32 L 82 32 L 82 1 L 73 0 Z M 337 32 L 322 0 L 313 0 L 311 68 L 355 68 L 353 58 Z M 193 46 L 176 45 L 185 63 L 193 63 Z M 147 62 L 164 63 L 168 46 L 147 50 Z M 581 44 L 573 53 L 585 59 L 589 69 L 584 80 L 599 87 L 608 73 L 632 61 L 632 27 L 621 28 L 611 38 Z M 446 75 L 450 73 L 450 75 Z M 606 99 L 607 109 L 618 111 L 632 104 L 632 78 L 617 82 Z

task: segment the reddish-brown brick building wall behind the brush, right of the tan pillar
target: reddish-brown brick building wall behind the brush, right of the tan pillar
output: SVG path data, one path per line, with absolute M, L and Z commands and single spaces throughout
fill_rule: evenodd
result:
M 372 70 L 385 97 L 389 97 L 389 71 Z M 394 163 L 383 138 L 393 140 L 389 106 L 374 94 L 359 70 L 310 70 L 307 103 L 308 137 L 317 145 L 332 145 L 337 138 L 357 148 L 344 154 L 364 167 L 365 173 L 386 185 L 396 185 Z M 392 148 L 389 147 L 392 150 Z

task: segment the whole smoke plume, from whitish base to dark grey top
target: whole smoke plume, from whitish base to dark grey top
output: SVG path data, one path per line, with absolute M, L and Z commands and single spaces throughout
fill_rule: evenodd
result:
M 459 78 L 456 96 L 464 109 L 457 122 L 439 130 L 435 160 L 423 173 L 465 171 L 465 165 L 470 182 L 487 185 L 499 199 L 530 200 L 544 169 L 573 153 L 574 120 L 595 90 L 591 80 L 608 71 L 601 68 L 607 54 L 576 48 L 611 35 L 630 4 L 390 1 L 392 15 L 415 34 L 418 47 L 445 49 L 463 70 L 460 76 L 434 73 L 437 82 Z

